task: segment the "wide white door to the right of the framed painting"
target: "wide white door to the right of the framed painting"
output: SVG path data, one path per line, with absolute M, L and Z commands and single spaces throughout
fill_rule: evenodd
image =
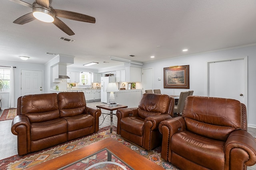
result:
M 208 96 L 247 103 L 247 57 L 208 64 Z

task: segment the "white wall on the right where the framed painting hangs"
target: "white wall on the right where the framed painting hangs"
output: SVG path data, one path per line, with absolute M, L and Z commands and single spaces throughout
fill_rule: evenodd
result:
M 164 94 L 179 95 L 184 89 L 164 89 L 164 67 L 174 65 L 189 65 L 190 70 L 190 90 L 194 90 L 194 95 L 207 96 L 206 94 L 206 63 L 208 61 L 218 61 L 248 56 L 248 126 L 256 128 L 256 45 L 240 47 L 236 49 L 225 49 L 202 53 L 197 55 L 175 57 L 163 61 L 156 61 L 143 64 L 143 68 L 153 68 L 153 89 L 161 89 Z M 158 77 L 161 81 L 158 81 Z M 187 90 L 187 89 L 186 89 Z

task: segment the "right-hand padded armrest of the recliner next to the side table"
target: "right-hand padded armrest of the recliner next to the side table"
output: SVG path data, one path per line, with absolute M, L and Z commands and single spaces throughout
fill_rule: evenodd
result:
M 146 117 L 144 124 L 146 129 L 149 127 L 150 129 L 158 129 L 159 124 L 161 121 L 171 119 L 172 117 L 169 114 L 161 114 L 161 115 L 154 115 L 151 117 Z

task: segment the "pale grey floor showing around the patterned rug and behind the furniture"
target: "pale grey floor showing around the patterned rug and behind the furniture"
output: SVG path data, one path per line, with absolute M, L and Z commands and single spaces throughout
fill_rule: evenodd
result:
M 101 102 L 87 102 L 87 106 L 96 107 L 96 105 L 102 104 Z M 102 109 L 103 113 L 109 113 L 110 111 Z M 113 111 L 116 113 L 115 111 Z M 0 112 L 0 115 L 2 111 Z M 105 117 L 106 115 L 104 115 Z M 102 115 L 99 118 L 100 124 L 103 121 Z M 14 156 L 18 154 L 17 151 L 17 136 L 11 132 L 12 120 L 0 121 L 0 131 L 2 139 L 0 140 L 0 160 Z M 104 122 L 100 125 L 100 128 L 110 125 L 110 116 L 107 115 Z M 113 125 L 117 126 L 117 117 L 113 116 Z M 256 138 L 256 128 L 248 127 L 248 132 Z M 256 165 L 247 167 L 248 170 L 256 170 Z

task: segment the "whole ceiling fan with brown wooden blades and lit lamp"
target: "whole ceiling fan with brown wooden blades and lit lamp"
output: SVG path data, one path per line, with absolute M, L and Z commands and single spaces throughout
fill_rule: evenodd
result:
M 24 16 L 21 16 L 17 20 L 13 21 L 13 23 L 23 25 L 24 23 L 28 23 L 35 19 L 38 19 L 44 22 L 52 22 L 54 25 L 56 25 L 59 29 L 61 29 L 63 32 L 65 32 L 68 35 L 74 35 L 75 33 L 70 29 L 70 27 L 68 27 L 68 25 L 62 22 L 58 17 L 66 18 L 69 20 L 95 23 L 94 17 L 80 14 L 77 12 L 53 9 L 51 6 L 52 0 L 35 0 L 33 4 L 29 4 L 22 0 L 10 0 L 10 1 L 32 8 L 32 12 Z M 41 15 L 42 15 L 42 18 L 40 18 Z

